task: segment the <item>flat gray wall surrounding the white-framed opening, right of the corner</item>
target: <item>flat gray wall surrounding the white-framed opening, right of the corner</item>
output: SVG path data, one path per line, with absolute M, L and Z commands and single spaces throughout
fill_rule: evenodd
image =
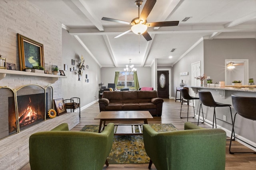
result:
M 225 81 L 225 59 L 249 59 L 249 78 L 256 79 L 256 39 L 204 40 L 204 74 Z

